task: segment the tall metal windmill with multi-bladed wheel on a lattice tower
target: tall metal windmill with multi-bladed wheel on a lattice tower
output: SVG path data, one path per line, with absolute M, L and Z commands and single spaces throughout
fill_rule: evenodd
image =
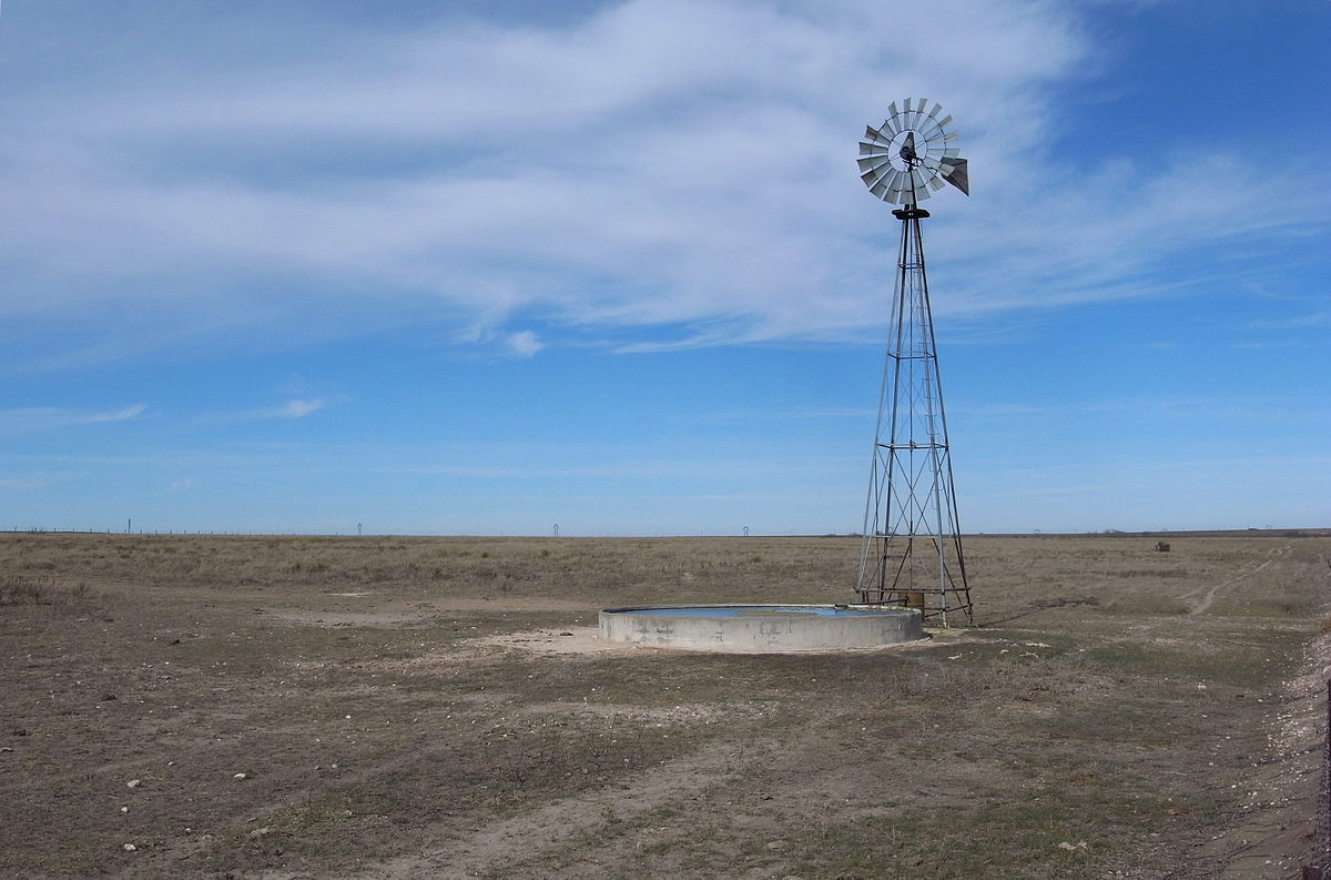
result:
M 944 184 L 970 194 L 966 160 L 950 116 L 926 99 L 893 101 L 888 118 L 860 141 L 860 177 L 869 192 L 901 205 L 888 354 L 878 393 L 869 497 L 856 594 L 866 604 L 908 604 L 925 618 L 962 615 L 974 623 L 952 486 L 948 421 L 929 310 L 920 202 Z

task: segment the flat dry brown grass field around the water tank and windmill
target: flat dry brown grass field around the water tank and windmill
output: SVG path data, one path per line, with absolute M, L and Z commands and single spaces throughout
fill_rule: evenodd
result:
M 851 538 L 0 534 L 0 876 L 1296 876 L 1331 533 L 976 537 L 974 628 L 596 642 L 844 602 Z

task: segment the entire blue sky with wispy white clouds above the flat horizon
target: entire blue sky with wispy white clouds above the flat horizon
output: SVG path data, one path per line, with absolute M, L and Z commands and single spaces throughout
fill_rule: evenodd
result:
M 0 529 L 861 526 L 925 248 L 965 531 L 1331 526 L 1331 3 L 11 0 Z

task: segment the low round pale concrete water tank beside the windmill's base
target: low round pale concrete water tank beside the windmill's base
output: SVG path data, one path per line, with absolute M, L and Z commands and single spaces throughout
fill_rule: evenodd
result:
M 600 638 L 704 651 L 837 651 L 924 638 L 920 611 L 864 606 L 606 608 Z

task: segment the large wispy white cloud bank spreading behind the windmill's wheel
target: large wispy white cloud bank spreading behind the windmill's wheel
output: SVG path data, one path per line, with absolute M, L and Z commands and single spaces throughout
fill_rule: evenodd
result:
M 113 325 L 114 298 L 170 325 L 121 328 L 125 347 L 422 313 L 519 355 L 554 343 L 506 329 L 532 313 L 596 339 L 671 328 L 624 347 L 876 337 L 894 230 L 855 140 L 920 93 L 957 117 L 974 177 L 930 221 L 942 313 L 1166 293 L 1170 256 L 1318 212 L 1254 202 L 1282 172 L 1223 149 L 1050 154 L 1047 87 L 1090 52 L 1055 4 L 631 0 L 547 27 L 331 21 L 278 55 L 224 24 L 193 32 L 208 65 L 0 95 L 0 314 Z M 1286 189 L 1315 193 L 1296 166 Z M 310 308 L 333 296 L 358 305 Z

